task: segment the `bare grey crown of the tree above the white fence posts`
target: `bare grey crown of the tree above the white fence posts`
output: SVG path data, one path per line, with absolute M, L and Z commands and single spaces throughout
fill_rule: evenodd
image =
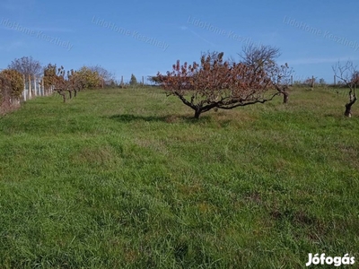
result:
M 43 72 L 43 67 L 39 61 L 34 60 L 32 56 L 23 56 L 20 59 L 14 59 L 8 69 L 13 69 L 26 76 L 26 78 L 31 76 L 41 76 Z

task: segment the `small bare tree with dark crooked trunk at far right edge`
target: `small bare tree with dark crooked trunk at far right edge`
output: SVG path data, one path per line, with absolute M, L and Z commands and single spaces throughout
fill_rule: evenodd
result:
M 352 61 L 347 61 L 345 65 L 337 62 L 336 65 L 332 65 L 334 75 L 343 82 L 344 86 L 349 88 L 349 102 L 346 103 L 346 111 L 344 115 L 346 117 L 352 117 L 352 106 L 356 101 L 356 86 L 359 84 L 359 74 L 356 70 L 356 66 Z

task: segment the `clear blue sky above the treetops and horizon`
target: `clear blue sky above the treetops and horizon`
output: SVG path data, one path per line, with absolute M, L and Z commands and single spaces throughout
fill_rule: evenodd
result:
M 1 0 L 0 68 L 32 56 L 42 65 L 101 65 L 129 81 L 243 46 L 280 48 L 294 80 L 333 81 L 338 60 L 359 64 L 359 2 Z

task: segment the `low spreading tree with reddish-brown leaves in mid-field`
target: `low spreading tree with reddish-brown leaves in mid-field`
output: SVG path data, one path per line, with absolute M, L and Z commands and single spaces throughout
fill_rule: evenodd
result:
M 273 100 L 285 91 L 282 82 L 288 68 L 267 59 L 230 63 L 223 61 L 223 52 L 215 52 L 203 54 L 200 64 L 180 65 L 178 60 L 171 72 L 158 73 L 153 81 L 195 110 L 198 118 L 212 108 L 232 109 Z M 276 91 L 270 91 L 273 88 Z

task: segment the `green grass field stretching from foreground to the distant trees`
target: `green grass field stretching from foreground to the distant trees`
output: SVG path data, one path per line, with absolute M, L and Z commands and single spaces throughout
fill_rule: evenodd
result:
M 156 89 L 37 98 L 0 117 L 0 268 L 359 263 L 359 105 L 293 89 L 193 111 Z M 320 266 L 325 267 L 325 266 Z

